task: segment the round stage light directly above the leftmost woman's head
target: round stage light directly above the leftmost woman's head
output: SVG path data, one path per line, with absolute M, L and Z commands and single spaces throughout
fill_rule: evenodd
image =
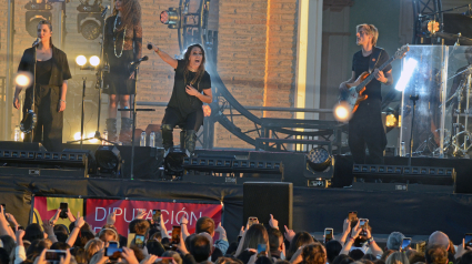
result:
M 41 20 L 52 20 L 52 13 L 49 10 L 52 10 L 52 4 L 46 1 L 38 2 L 32 0 L 24 4 L 24 8 L 29 11 L 26 12 L 26 29 L 32 38 L 38 37 L 38 23 Z

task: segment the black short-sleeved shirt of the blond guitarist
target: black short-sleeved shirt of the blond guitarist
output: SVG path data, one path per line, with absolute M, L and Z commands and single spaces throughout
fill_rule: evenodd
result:
M 370 61 L 372 59 L 376 59 L 376 58 L 372 58 L 372 53 L 368 57 L 363 57 L 362 50 L 355 52 L 354 57 L 352 58 L 352 71 L 355 72 L 355 79 L 358 79 L 358 77 L 361 75 L 362 72 L 369 71 Z M 385 50 L 382 50 L 375 68 L 380 68 L 388 60 L 389 60 L 389 53 L 386 53 Z M 389 64 L 388 67 L 385 67 L 385 69 L 383 69 L 383 73 L 390 71 L 391 69 L 392 69 L 392 65 Z M 376 99 L 382 101 L 381 85 L 382 85 L 381 82 L 379 82 L 376 79 L 373 79 L 365 87 L 365 91 L 362 94 L 366 94 L 368 100 Z

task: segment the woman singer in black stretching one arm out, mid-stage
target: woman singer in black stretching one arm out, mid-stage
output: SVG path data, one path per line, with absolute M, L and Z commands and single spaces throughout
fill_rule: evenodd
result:
M 173 146 L 172 131 L 178 124 L 185 130 L 185 150 L 190 156 L 195 150 L 197 132 L 203 124 L 203 103 L 211 103 L 210 74 L 204 70 L 205 55 L 200 44 L 187 48 L 183 60 L 175 60 L 168 53 L 153 47 L 154 52 L 175 69 L 172 95 L 162 119 L 162 145 L 165 155 Z

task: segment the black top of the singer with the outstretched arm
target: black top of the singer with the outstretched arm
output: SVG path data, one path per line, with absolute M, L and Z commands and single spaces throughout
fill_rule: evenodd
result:
M 168 106 L 177 108 L 180 110 L 182 115 L 187 115 L 202 108 L 203 103 L 197 97 L 189 95 L 185 92 L 185 87 L 190 84 L 190 82 L 195 77 L 194 72 L 189 71 L 187 77 L 184 77 L 185 62 L 183 60 L 178 60 L 175 77 L 173 82 L 172 95 L 170 98 Z M 211 88 L 211 79 L 210 74 L 205 71 L 203 77 L 192 85 L 200 93 Z

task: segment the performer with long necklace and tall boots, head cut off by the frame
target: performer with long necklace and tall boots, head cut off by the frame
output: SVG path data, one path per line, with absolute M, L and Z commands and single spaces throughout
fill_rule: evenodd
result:
M 110 73 L 104 77 L 103 92 L 108 93 L 107 130 L 109 140 L 117 140 L 117 108 L 130 106 L 130 94 L 134 94 L 134 69 L 130 63 L 141 58 L 142 27 L 141 6 L 138 0 L 117 0 L 113 16 L 106 21 L 103 38 L 104 59 L 110 65 Z M 120 141 L 131 143 L 131 112 L 121 112 Z

